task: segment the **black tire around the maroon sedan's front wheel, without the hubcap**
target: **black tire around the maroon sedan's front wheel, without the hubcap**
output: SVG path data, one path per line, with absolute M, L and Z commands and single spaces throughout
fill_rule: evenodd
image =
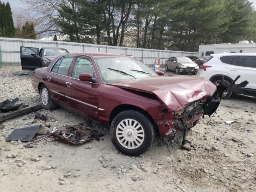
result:
M 120 144 L 120 142 L 122 142 L 122 141 L 119 141 L 119 140 L 122 140 L 124 137 L 120 136 L 118 139 L 118 136 L 116 135 L 116 134 L 118 134 L 117 130 L 118 130 L 118 132 L 120 132 L 120 131 L 122 132 L 121 129 L 118 129 L 118 125 L 122 121 L 125 121 L 126 119 L 132 119 L 132 120 L 137 121 L 141 125 L 141 126 L 139 126 L 140 127 L 139 129 L 144 131 L 144 140 L 140 143 L 139 146 L 137 145 L 136 148 L 134 148 L 134 149 L 129 149 L 128 146 L 126 146 L 124 144 L 124 143 L 127 144 L 126 141 L 123 143 L 123 145 Z M 138 125 L 138 124 L 135 124 L 135 121 L 133 121 L 134 122 L 133 124 L 131 123 L 133 126 Z M 125 129 L 127 129 L 127 128 L 124 128 L 124 130 Z M 123 132 L 126 136 L 129 136 L 128 130 L 126 132 L 125 131 L 123 131 Z M 122 134 L 122 135 L 124 135 L 124 134 Z M 110 126 L 110 138 L 111 138 L 113 145 L 121 153 L 129 155 L 129 156 L 138 156 L 138 155 L 146 152 L 146 150 L 148 150 L 148 148 L 150 146 L 152 146 L 152 143 L 154 141 L 154 135 L 155 135 L 154 126 L 153 126 L 151 120 L 143 113 L 134 111 L 134 110 L 120 112 L 114 118 L 114 120 L 112 121 L 111 126 Z M 132 133 L 132 135 L 130 135 L 130 136 L 135 136 L 135 134 Z M 134 141 L 133 141 L 133 144 L 136 145 L 136 143 Z M 124 147 L 124 145 L 126 147 Z M 132 145 L 132 142 L 130 142 L 130 145 Z

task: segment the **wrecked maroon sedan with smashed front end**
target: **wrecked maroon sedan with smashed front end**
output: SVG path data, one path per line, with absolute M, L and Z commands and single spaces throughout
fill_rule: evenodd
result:
M 208 80 L 160 75 L 129 56 L 66 54 L 36 69 L 32 85 L 43 108 L 59 105 L 110 126 L 114 146 L 136 156 L 151 146 L 155 134 L 171 137 L 182 131 L 185 136 L 220 102 L 221 90 Z

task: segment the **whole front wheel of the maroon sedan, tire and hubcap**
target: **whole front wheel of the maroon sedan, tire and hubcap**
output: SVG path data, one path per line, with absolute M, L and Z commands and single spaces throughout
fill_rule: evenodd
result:
M 152 145 L 154 127 L 143 113 L 134 110 L 123 111 L 111 123 L 110 138 L 123 154 L 138 156 Z

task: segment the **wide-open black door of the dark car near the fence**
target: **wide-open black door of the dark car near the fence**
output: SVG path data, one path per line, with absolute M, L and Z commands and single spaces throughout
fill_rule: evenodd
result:
M 39 49 L 34 47 L 20 47 L 20 62 L 22 70 L 34 71 L 41 67 Z

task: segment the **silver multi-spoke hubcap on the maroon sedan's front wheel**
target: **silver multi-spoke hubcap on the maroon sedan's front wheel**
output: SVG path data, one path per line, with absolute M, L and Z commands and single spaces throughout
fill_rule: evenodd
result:
M 134 119 L 124 119 L 116 127 L 116 138 L 127 149 L 136 149 L 141 146 L 144 137 L 143 127 Z

